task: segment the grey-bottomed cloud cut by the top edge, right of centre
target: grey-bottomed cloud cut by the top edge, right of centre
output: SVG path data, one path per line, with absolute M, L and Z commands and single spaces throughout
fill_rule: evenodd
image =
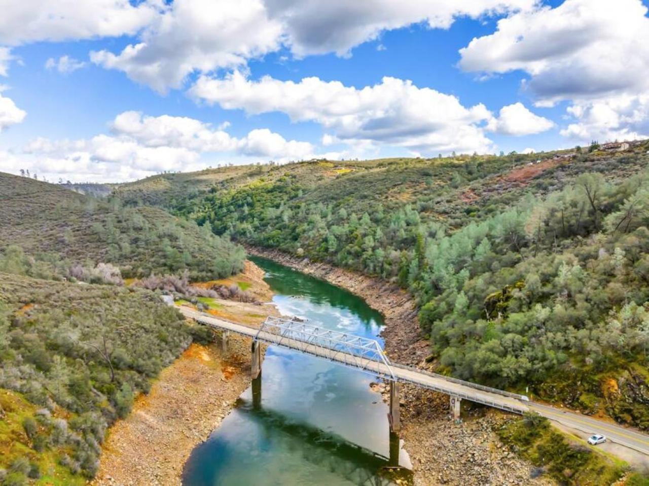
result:
M 455 18 L 478 18 L 529 9 L 535 0 L 266 0 L 269 16 L 284 25 L 286 44 L 298 57 L 335 52 L 349 55 L 356 45 L 384 31 L 415 23 L 448 29 Z

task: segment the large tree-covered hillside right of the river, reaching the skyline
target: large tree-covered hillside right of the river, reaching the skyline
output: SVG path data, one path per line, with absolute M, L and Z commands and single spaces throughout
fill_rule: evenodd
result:
M 315 160 L 115 194 L 395 281 L 419 301 L 438 370 L 648 429 L 648 152 Z

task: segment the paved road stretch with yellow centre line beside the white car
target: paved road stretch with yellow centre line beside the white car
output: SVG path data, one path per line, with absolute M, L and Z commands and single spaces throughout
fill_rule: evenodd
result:
M 560 424 L 578 429 L 590 434 L 600 433 L 606 435 L 609 441 L 616 442 L 622 446 L 629 447 L 643 454 L 649 455 L 649 435 L 633 429 L 625 428 L 604 420 L 597 420 L 586 415 L 572 413 L 557 409 L 555 407 L 548 407 L 540 403 L 529 402 L 528 406 L 533 411 L 543 415 L 550 420 L 555 420 Z

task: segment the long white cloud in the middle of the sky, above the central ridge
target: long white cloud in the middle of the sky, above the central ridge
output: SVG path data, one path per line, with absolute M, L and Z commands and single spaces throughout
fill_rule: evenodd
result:
M 492 148 L 482 127 L 491 119 L 484 105 L 467 108 L 455 96 L 393 77 L 357 89 L 317 77 L 299 83 L 271 77 L 250 81 L 234 72 L 224 79 L 203 76 L 190 94 L 225 109 L 249 114 L 279 111 L 293 122 L 318 122 L 350 144 L 390 144 L 435 153 Z

